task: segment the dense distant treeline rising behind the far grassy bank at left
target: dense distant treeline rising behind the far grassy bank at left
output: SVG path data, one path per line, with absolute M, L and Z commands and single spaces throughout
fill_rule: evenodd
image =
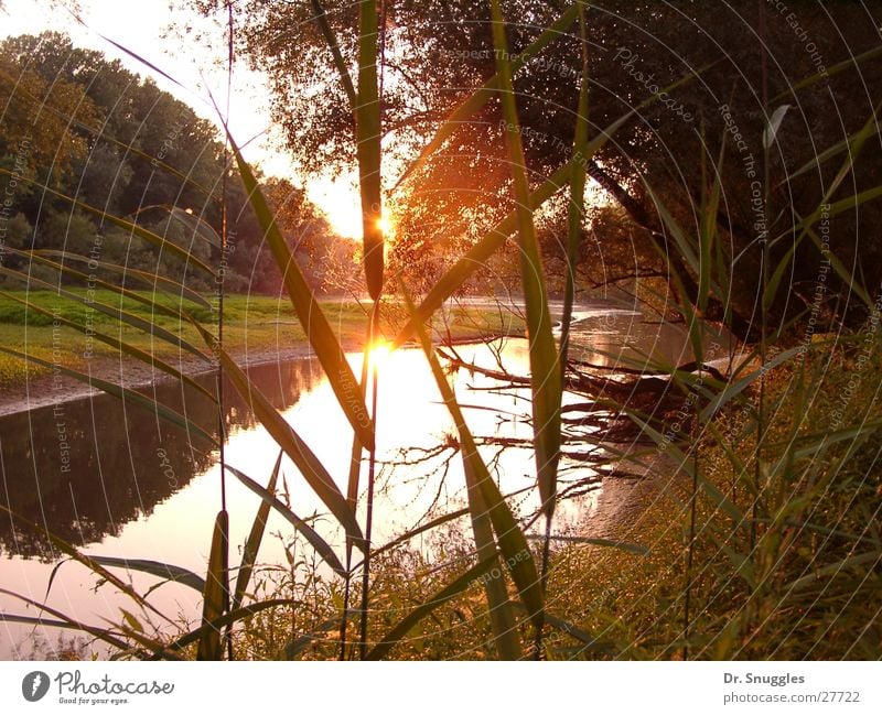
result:
M 116 264 L 131 277 L 136 272 L 130 269 L 158 271 L 190 288 L 214 290 L 209 277 L 101 213 L 136 223 L 217 267 L 220 251 L 206 237 L 212 235 L 208 226 L 220 230 L 224 159 L 211 122 L 119 61 L 76 48 L 57 33 L 0 43 L 3 268 L 26 269 L 56 284 L 56 271 L 17 250 L 64 251 L 89 259 L 93 267 Z M 312 288 L 347 285 L 357 275 L 355 245 L 333 232 L 301 188 L 282 178 L 261 182 Z M 281 275 L 235 166 L 227 176 L 226 205 L 227 289 L 276 292 Z M 43 256 L 60 260 L 58 253 Z M 64 260 L 86 270 L 83 262 Z M 0 275 L 0 284 L 22 286 L 10 275 Z

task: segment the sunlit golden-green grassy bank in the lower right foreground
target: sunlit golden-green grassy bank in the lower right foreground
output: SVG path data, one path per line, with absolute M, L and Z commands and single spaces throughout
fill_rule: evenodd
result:
M 559 613 L 596 638 L 599 652 L 879 658 L 882 340 L 865 348 L 860 337 L 770 370 L 759 464 L 759 388 L 693 426 L 695 448 L 669 455 L 667 487 L 623 533 L 646 555 L 558 553 Z M 569 639 L 558 644 L 591 654 Z

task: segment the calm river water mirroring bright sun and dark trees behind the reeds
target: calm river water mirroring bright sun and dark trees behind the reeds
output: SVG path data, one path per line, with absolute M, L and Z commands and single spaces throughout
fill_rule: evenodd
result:
M 574 357 L 612 365 L 616 355 L 635 357 L 636 349 L 664 355 L 676 362 L 690 359 L 684 353 L 685 340 L 677 328 L 659 329 L 658 325 L 642 324 L 636 315 L 611 313 L 607 307 L 584 307 L 577 317 L 577 337 L 587 347 Z M 502 360 L 512 372 L 528 372 L 523 339 L 460 346 L 456 350 L 470 362 L 498 369 Z M 352 356 L 351 361 L 357 375 L 361 357 Z M 378 454 L 384 464 L 377 477 L 375 544 L 466 503 L 459 456 L 449 449 L 431 452 L 445 434 L 453 433 L 453 426 L 447 409 L 438 403 L 424 357 L 418 350 L 399 350 L 386 357 L 379 369 Z M 345 492 L 351 431 L 318 362 L 300 359 L 256 367 L 250 377 Z M 211 387 L 212 376 L 201 379 Z M 529 437 L 530 427 L 524 421 L 529 411 L 526 391 L 481 389 L 492 384 L 495 383 L 464 370 L 455 377 L 460 401 L 471 405 L 467 418 L 472 431 L 481 437 Z M 217 432 L 211 403 L 196 391 L 182 391 L 180 386 L 170 383 L 149 391 L 207 431 Z M 226 393 L 227 462 L 266 484 L 278 448 L 255 424 L 235 391 L 228 388 Z M 504 494 L 533 485 L 529 451 L 491 444 L 485 455 L 494 459 Z M 292 509 L 300 517 L 319 514 L 316 529 L 332 545 L 340 545 L 342 534 L 331 519 L 321 516 L 322 505 L 287 459 L 282 465 Z M 583 534 L 614 529 L 615 514 L 628 507 L 632 487 L 607 480 L 602 489 L 587 489 L 583 487 L 596 486 L 596 475 L 584 467 L 572 468 L 572 464 L 563 466 L 561 489 L 572 487 L 573 494 L 581 496 L 561 505 L 557 529 Z M 149 559 L 200 574 L 205 570 L 212 524 L 220 506 L 217 453 L 136 407 L 98 394 L 0 418 L 0 502 L 45 524 L 86 553 Z M 227 477 L 227 499 L 232 543 L 240 545 L 258 499 L 233 477 Z M 535 489 L 526 489 L 513 501 L 523 517 L 531 514 L 537 503 Z M 359 516 L 363 522 L 364 517 Z M 467 522 L 461 521 L 460 526 Z M 273 532 L 278 535 L 270 535 Z M 271 518 L 260 560 L 284 563 L 291 537 L 286 521 Z M 415 539 L 411 546 L 429 553 L 439 540 L 443 534 L 429 532 Z M 101 617 L 117 616 L 121 602 L 114 589 L 103 586 L 96 591 L 95 577 L 78 564 L 62 565 L 49 588 L 58 554 L 6 513 L 0 516 L 0 587 L 45 602 L 87 622 L 101 624 Z M 235 552 L 232 563 L 238 563 Z M 157 581 L 143 574 L 132 574 L 131 578 L 142 591 Z M 193 619 L 197 614 L 198 596 L 176 584 L 163 585 L 151 600 L 171 616 L 180 614 Z M 0 609 L 30 616 L 39 613 L 2 594 Z M 51 652 L 58 632 L 2 625 L 0 656 L 15 657 L 17 646 L 21 644 L 23 650 L 18 654 L 26 657 L 33 642 L 43 638 Z

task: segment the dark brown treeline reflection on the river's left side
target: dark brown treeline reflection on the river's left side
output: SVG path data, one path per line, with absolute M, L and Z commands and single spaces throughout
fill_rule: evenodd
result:
M 314 360 L 255 367 L 249 375 L 284 410 L 321 376 Z M 215 378 L 196 381 L 214 391 Z M 149 394 L 217 436 L 214 403 L 196 390 L 160 383 Z M 255 427 L 246 403 L 225 389 L 227 434 Z M 2 503 L 74 544 L 119 535 L 186 487 L 216 461 L 211 445 L 138 407 L 107 394 L 19 412 L 0 419 Z M 44 540 L 0 512 L 0 550 L 53 559 Z

